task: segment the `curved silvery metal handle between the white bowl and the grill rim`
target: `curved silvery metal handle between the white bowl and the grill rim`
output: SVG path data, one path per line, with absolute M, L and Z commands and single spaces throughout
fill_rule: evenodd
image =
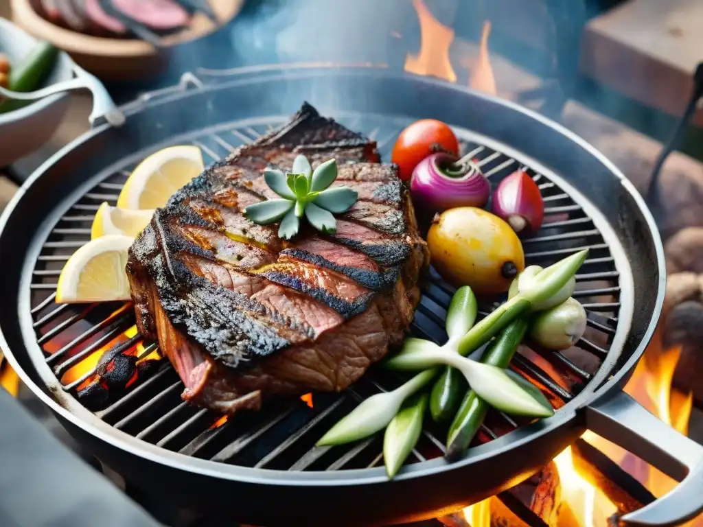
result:
M 105 119 L 105 121 L 112 124 L 112 126 L 121 126 L 124 124 L 124 114 L 122 110 L 117 108 L 112 101 L 112 97 L 110 97 L 105 86 L 103 86 L 98 78 L 77 65 L 73 66 L 73 70 L 76 74 L 74 79 L 57 82 L 56 84 L 46 86 L 46 88 L 37 91 L 19 92 L 0 87 L 0 97 L 31 101 L 49 97 L 55 93 L 62 93 L 64 91 L 87 89 L 93 94 L 93 111 L 89 117 L 91 126 L 100 124 L 101 119 Z

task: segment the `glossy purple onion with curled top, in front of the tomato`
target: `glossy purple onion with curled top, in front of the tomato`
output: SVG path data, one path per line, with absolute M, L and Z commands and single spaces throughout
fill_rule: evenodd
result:
M 456 157 L 442 152 L 425 157 L 415 167 L 410 190 L 413 202 L 432 212 L 484 207 L 491 195 L 491 187 L 477 164 L 464 160 L 456 163 Z

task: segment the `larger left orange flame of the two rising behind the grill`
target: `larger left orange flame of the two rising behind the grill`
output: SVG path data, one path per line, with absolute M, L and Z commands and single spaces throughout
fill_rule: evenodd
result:
M 454 39 L 454 30 L 434 18 L 423 0 L 413 0 L 413 7 L 420 20 L 420 53 L 407 54 L 404 70 L 456 82 L 456 73 L 449 60 L 449 47 Z

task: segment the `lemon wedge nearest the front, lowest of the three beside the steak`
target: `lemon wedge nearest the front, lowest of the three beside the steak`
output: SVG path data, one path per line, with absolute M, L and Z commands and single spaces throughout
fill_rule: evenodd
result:
M 121 234 L 91 240 L 68 259 L 58 277 L 56 301 L 105 302 L 129 300 L 124 266 L 134 238 Z

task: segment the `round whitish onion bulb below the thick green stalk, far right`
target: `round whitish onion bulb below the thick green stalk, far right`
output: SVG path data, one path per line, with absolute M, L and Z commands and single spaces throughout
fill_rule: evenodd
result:
M 530 326 L 530 336 L 553 350 L 569 349 L 586 331 L 586 310 L 578 300 L 567 301 L 543 311 Z

